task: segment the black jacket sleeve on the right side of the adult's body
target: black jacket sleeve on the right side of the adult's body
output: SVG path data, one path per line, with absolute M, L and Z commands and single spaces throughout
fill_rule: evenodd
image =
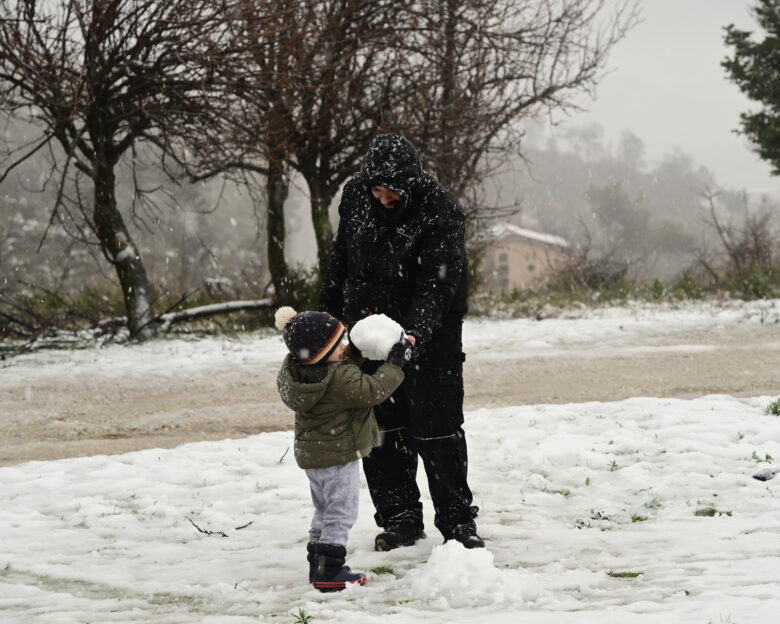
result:
M 423 237 L 420 270 L 404 329 L 420 341 L 441 327 L 466 267 L 465 217 L 453 202 L 437 215 Z

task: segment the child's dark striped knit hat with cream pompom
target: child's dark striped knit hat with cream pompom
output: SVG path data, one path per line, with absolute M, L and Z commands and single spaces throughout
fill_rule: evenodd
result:
M 274 319 L 290 354 L 301 364 L 327 360 L 346 332 L 344 324 L 327 312 L 296 312 L 284 306 L 276 311 Z

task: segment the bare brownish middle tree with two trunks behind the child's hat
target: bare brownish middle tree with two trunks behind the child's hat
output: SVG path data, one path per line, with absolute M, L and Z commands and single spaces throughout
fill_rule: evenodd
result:
M 245 109 L 232 149 L 268 168 L 268 259 L 277 298 L 289 299 L 284 202 L 289 174 L 307 183 L 319 274 L 333 232 L 328 209 L 382 128 L 397 65 L 390 0 L 246 0 L 253 67 L 266 97 Z M 273 14 L 274 19 L 267 16 Z M 251 169 L 251 167 L 250 167 Z

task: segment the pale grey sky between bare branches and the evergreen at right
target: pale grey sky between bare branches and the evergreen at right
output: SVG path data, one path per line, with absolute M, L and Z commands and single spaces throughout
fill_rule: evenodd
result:
M 726 80 L 723 27 L 757 30 L 755 0 L 643 0 L 642 23 L 610 56 L 589 111 L 566 124 L 599 123 L 608 140 L 631 130 L 652 162 L 679 147 L 709 168 L 721 186 L 780 198 L 780 178 L 769 174 L 744 137 L 739 113 L 757 108 Z

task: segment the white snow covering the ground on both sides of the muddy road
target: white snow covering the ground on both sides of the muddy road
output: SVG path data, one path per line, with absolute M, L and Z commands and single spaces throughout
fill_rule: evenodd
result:
M 491 358 L 576 353 L 585 339 L 637 348 L 658 332 L 744 329 L 777 310 L 470 322 L 465 342 Z M 175 374 L 281 353 L 278 338 L 162 341 L 32 354 L 0 379 Z M 752 478 L 780 462 L 780 418 L 765 413 L 774 398 L 472 411 L 470 480 L 487 549 L 442 545 L 426 497 L 428 538 L 374 552 L 364 487 L 348 550 L 369 582 L 338 594 L 307 584 L 310 503 L 290 432 L 0 468 L 0 622 L 292 624 L 301 609 L 313 624 L 775 622 L 780 477 Z

